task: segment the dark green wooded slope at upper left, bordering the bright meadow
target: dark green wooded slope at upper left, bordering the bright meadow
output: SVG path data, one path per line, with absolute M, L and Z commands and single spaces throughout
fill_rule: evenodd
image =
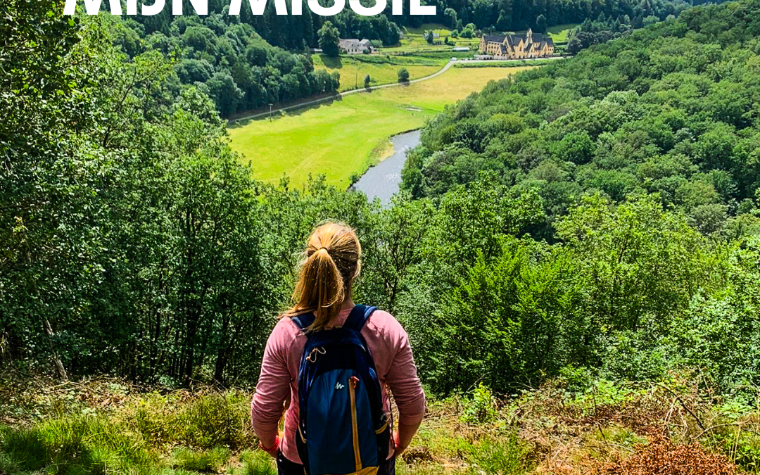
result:
M 183 87 L 198 87 L 224 117 L 338 89 L 337 72 L 315 71 L 309 55 L 271 46 L 251 25 L 226 24 L 224 18 L 220 14 L 178 16 L 168 35 L 147 33 L 144 25 L 132 19 L 106 17 L 102 21 L 109 24 L 112 43 L 129 58 L 157 52 L 173 62 L 165 81 L 172 84 L 174 96 Z

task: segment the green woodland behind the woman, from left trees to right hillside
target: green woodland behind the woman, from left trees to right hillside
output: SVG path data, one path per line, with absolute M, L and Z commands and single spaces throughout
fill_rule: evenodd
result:
M 214 101 L 107 16 L 0 17 L 0 361 L 254 382 L 315 223 L 363 245 L 433 393 L 760 362 L 760 2 L 696 7 L 429 123 L 391 207 L 250 178 Z

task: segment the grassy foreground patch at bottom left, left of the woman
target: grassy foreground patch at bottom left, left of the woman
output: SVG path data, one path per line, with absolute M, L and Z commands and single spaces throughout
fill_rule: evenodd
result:
M 216 473 L 255 446 L 249 402 L 244 391 L 154 392 L 111 409 L 46 401 L 50 419 L 0 426 L 0 475 Z

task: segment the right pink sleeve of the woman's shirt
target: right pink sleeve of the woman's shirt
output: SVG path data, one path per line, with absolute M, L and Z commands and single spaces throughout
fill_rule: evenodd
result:
M 395 352 L 385 382 L 398 407 L 398 422 L 411 426 L 422 422 L 425 416 L 425 391 L 417 376 L 407 332 L 395 318 L 392 321 L 391 348 Z

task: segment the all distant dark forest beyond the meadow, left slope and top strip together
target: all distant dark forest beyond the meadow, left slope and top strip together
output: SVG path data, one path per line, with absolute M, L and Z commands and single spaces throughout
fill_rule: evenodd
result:
M 204 16 L 195 14 L 185 1 L 185 14 L 181 16 L 164 8 L 153 16 L 112 19 L 112 41 L 130 58 L 148 51 L 161 52 L 176 62 L 176 78 L 171 80 L 176 83 L 175 95 L 181 87 L 195 85 L 214 100 L 223 117 L 230 117 L 236 112 L 336 91 L 339 74 L 315 71 L 309 55 L 309 49 L 321 47 L 325 27 L 334 26 L 342 38 L 368 38 L 377 46 L 393 46 L 402 36 L 401 27 L 423 22 L 443 23 L 469 35 L 480 30 L 528 27 L 545 32 L 547 25 L 584 22 L 568 45 L 570 52 L 578 52 L 677 15 L 689 3 L 542 0 L 523 4 L 521 0 L 478 0 L 441 3 L 435 17 L 410 16 L 408 12 L 391 15 L 390 11 L 363 17 L 346 8 L 329 19 L 308 8 L 300 15 L 277 15 L 273 2 L 268 2 L 261 15 L 252 14 L 245 2 L 239 15 L 228 14 L 229 2 L 214 0 L 208 6 L 209 14 Z

